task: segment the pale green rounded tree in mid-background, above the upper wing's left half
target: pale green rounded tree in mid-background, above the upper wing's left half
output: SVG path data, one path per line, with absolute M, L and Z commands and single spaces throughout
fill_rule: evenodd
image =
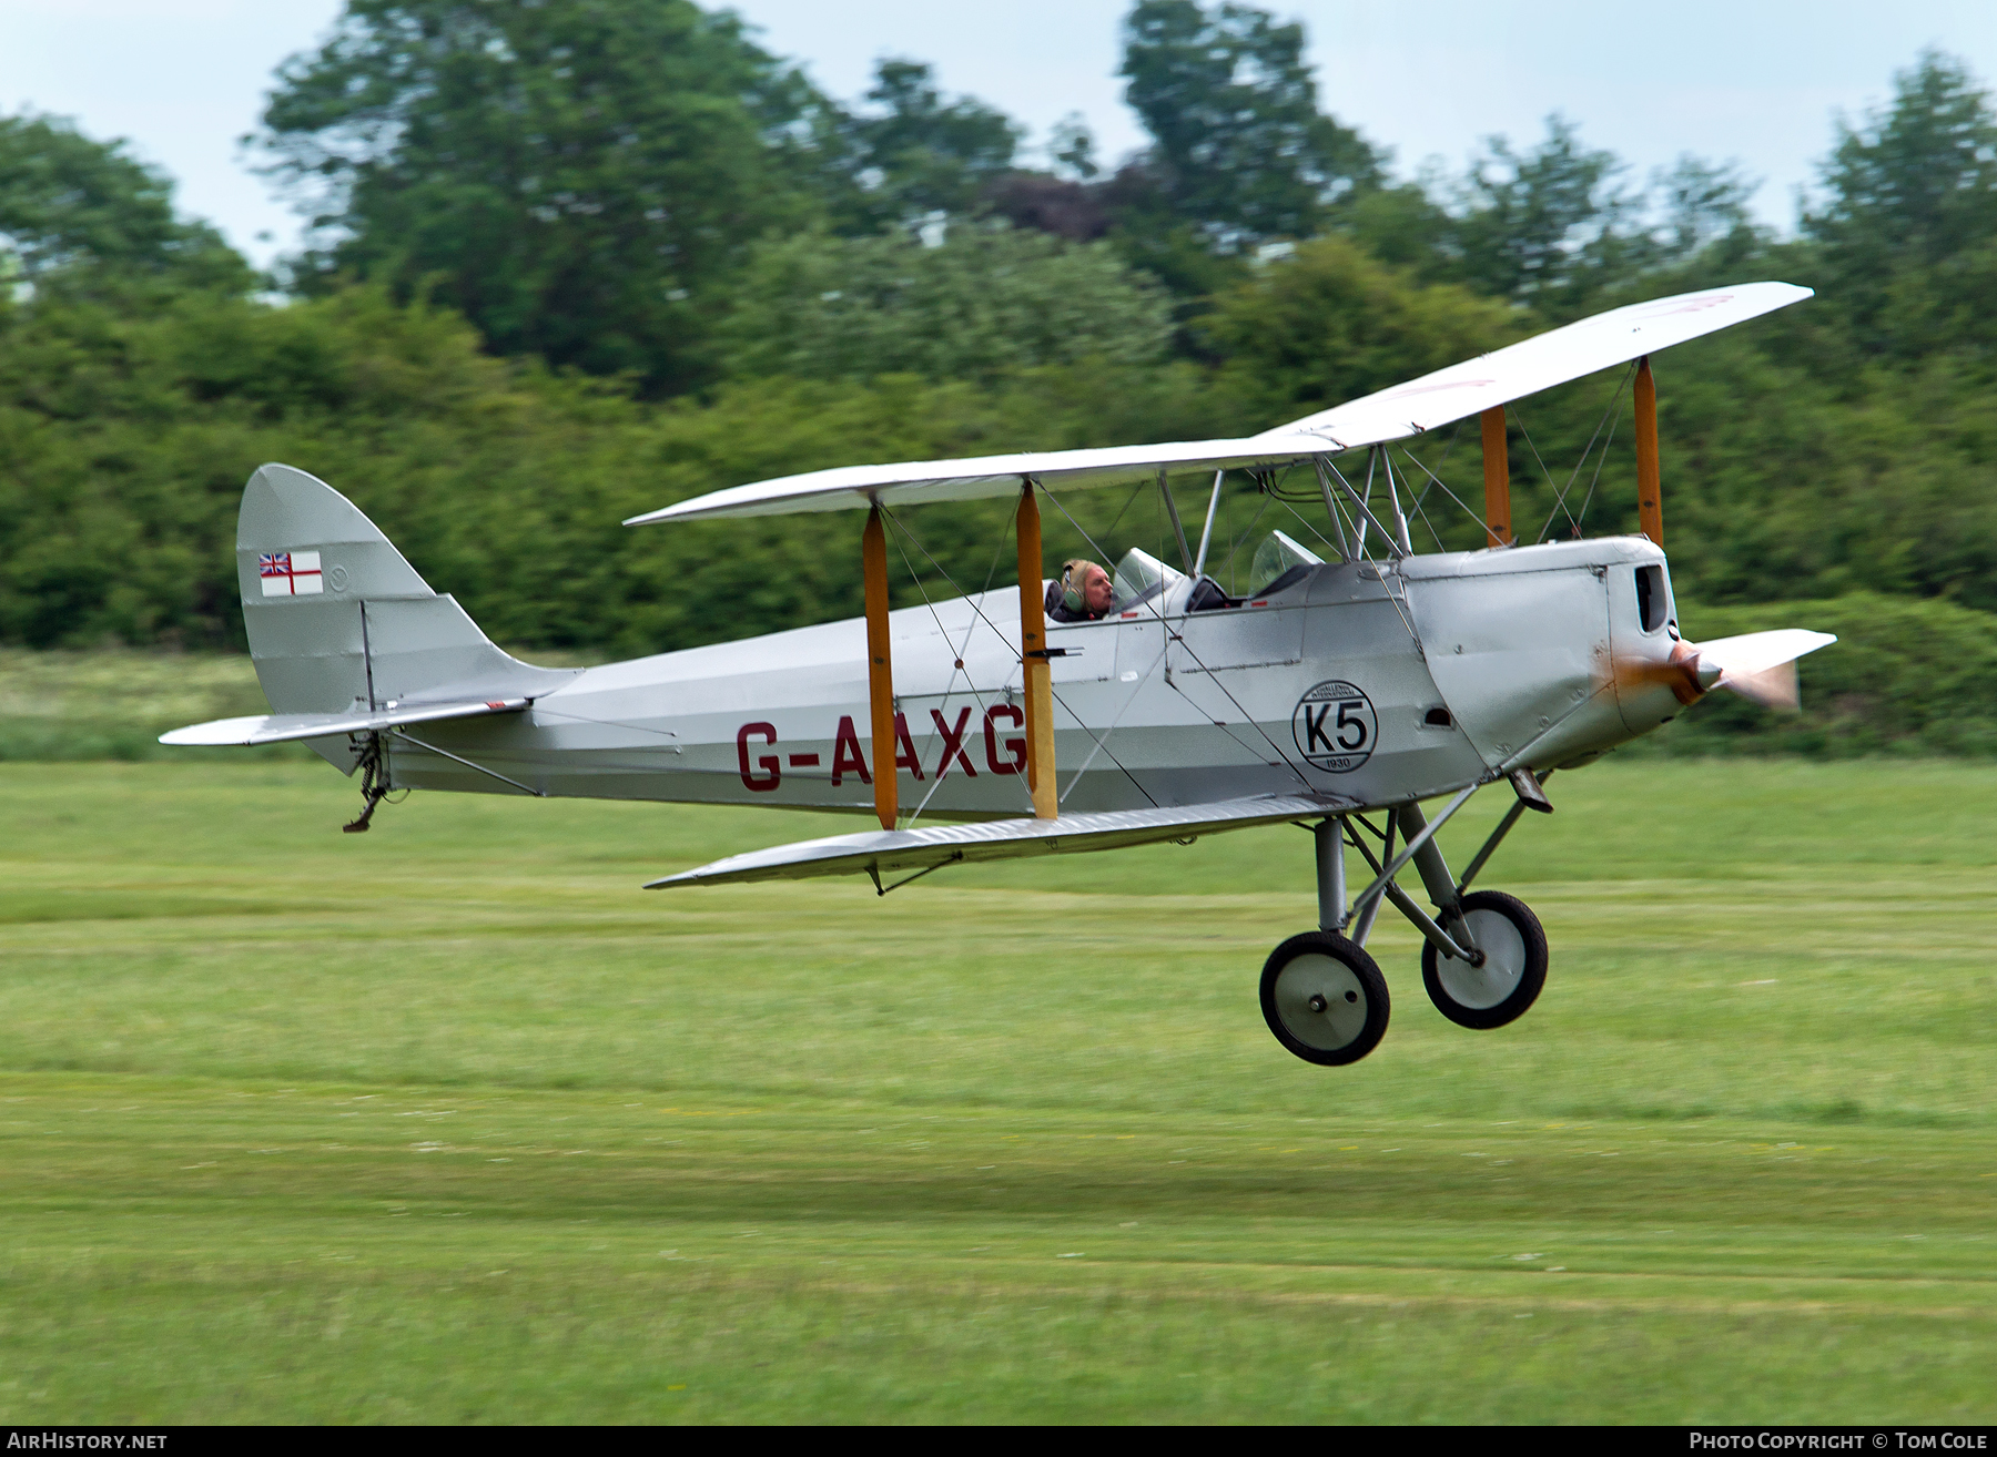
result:
M 1158 363 L 1162 289 L 1106 243 L 961 224 L 941 245 L 907 232 L 801 234 L 755 249 L 719 331 L 737 379 L 985 379 L 1050 363 Z

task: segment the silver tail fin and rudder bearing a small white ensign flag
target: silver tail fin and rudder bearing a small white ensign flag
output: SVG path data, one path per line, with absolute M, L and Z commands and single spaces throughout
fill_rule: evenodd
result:
M 244 487 L 236 577 L 250 657 L 280 715 L 537 699 L 575 677 L 501 653 L 359 507 L 290 465 L 264 465 Z M 343 740 L 314 746 L 351 770 Z

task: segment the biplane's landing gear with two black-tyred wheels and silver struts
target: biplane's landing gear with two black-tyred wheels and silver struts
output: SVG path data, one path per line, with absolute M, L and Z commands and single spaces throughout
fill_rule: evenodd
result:
M 1518 770 L 1512 780 L 1518 804 L 1492 830 L 1462 880 L 1450 876 L 1436 830 L 1470 800 L 1476 784 L 1458 792 L 1434 822 L 1418 804 L 1402 804 L 1388 814 L 1382 830 L 1346 814 L 1312 826 L 1318 842 L 1318 930 L 1292 936 L 1262 966 L 1262 1018 L 1282 1046 L 1320 1066 L 1358 1062 L 1380 1046 L 1390 998 L 1380 966 L 1366 952 L 1366 938 L 1388 900 L 1422 932 L 1422 986 L 1442 1016 L 1464 1028 L 1502 1028 L 1526 1014 L 1546 984 L 1546 930 L 1518 896 L 1468 890 L 1524 810 L 1554 808 L 1530 772 Z M 1352 820 L 1380 840 L 1378 856 Z M 1402 838 L 1398 854 L 1396 832 Z M 1348 844 L 1374 872 L 1372 884 L 1350 904 Z M 1394 874 L 1410 862 L 1436 904 L 1436 916 L 1394 884 Z

